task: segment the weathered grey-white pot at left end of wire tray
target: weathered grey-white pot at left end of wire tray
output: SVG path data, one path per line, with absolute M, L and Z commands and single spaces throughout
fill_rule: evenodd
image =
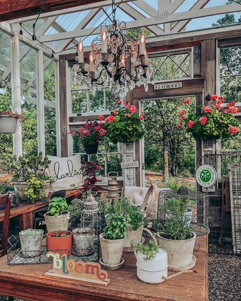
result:
M 19 232 L 21 256 L 33 258 L 40 255 L 44 231 L 41 229 L 27 229 Z

